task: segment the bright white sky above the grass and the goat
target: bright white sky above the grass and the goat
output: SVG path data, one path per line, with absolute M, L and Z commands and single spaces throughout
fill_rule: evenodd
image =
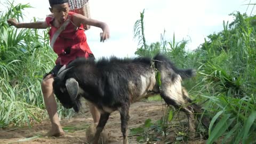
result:
M 0 0 L 0 8 L 3 3 Z M 204 43 L 207 35 L 223 30 L 223 21 L 231 22 L 230 13 L 245 13 L 249 0 L 90 0 L 91 18 L 106 22 L 110 28 L 110 39 L 100 43 L 101 29 L 91 27 L 85 31 L 88 44 L 96 58 L 135 57 L 138 41 L 133 38 L 133 26 L 140 19 L 140 12 L 145 9 L 145 37 L 147 44 L 161 41 L 165 31 L 165 39 L 172 41 L 188 40 L 187 50 L 194 50 Z M 34 8 L 24 11 L 23 22 L 30 22 L 33 17 L 44 20 L 50 13 L 49 1 L 15 0 L 16 4 L 29 3 Z M 253 2 L 251 2 L 253 3 Z M 252 6 L 247 13 L 250 15 Z M 254 14 L 254 13 L 253 13 Z

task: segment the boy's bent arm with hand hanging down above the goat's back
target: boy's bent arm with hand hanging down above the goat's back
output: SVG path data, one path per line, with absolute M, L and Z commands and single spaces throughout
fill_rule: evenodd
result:
M 105 22 L 101 22 L 98 20 L 94 20 L 94 19 L 89 19 L 84 17 L 84 15 L 81 14 L 74 14 L 73 20 L 75 23 L 77 23 L 78 27 L 82 24 L 82 25 L 90 25 L 90 26 L 94 26 L 94 27 L 98 27 L 102 29 L 102 33 L 100 34 L 100 41 L 104 42 L 106 39 L 108 39 L 110 37 L 109 35 L 109 28 L 108 25 Z

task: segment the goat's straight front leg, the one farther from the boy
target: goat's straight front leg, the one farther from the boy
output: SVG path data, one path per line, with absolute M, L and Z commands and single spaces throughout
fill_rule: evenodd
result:
M 129 105 L 124 105 L 122 106 L 120 110 L 120 116 L 121 116 L 121 131 L 123 134 L 123 144 L 128 144 L 128 139 L 127 139 L 127 124 L 130 119 L 129 116 Z

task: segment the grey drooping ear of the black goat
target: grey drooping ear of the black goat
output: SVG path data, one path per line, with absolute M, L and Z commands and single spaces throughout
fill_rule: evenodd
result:
M 75 100 L 79 91 L 79 85 L 75 78 L 69 78 L 66 81 L 66 88 L 71 99 Z

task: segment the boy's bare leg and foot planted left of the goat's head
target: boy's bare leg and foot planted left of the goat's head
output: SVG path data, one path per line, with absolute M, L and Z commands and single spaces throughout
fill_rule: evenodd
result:
M 47 133 L 47 136 L 59 137 L 60 135 L 64 134 L 64 131 L 61 128 L 59 117 L 57 114 L 57 102 L 53 94 L 52 83 L 53 83 L 53 76 L 51 74 L 47 75 L 42 82 L 42 92 L 44 97 L 44 103 L 52 124 L 51 131 Z

